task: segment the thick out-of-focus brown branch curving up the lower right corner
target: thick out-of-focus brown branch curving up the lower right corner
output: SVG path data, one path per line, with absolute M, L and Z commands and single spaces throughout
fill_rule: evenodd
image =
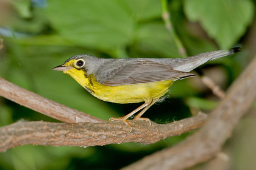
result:
M 173 148 L 163 149 L 124 169 L 185 169 L 216 155 L 256 96 L 256 57 L 232 84 L 204 127 Z

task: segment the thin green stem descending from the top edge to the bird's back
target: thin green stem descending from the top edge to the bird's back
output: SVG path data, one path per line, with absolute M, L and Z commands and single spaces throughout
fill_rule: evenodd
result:
M 163 22 L 165 22 L 165 27 L 168 30 L 169 33 L 171 33 L 174 42 L 176 43 L 176 46 L 179 50 L 180 55 L 183 57 L 188 56 L 185 47 L 182 44 L 182 41 L 180 41 L 179 36 L 177 36 L 175 30 L 172 28 L 172 23 L 171 23 L 171 18 L 168 12 L 168 5 L 167 5 L 167 0 L 162 0 L 162 18 Z

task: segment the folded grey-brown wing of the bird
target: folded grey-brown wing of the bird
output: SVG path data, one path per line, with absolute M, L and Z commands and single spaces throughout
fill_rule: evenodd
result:
M 104 78 L 98 78 L 99 83 L 106 86 L 151 83 L 163 80 L 180 80 L 194 76 L 193 73 L 180 72 L 161 63 L 149 60 L 133 60 L 121 64 L 110 72 L 105 72 Z

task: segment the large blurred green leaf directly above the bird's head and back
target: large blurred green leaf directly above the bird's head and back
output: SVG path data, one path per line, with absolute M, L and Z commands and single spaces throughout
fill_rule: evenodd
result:
M 112 50 L 129 44 L 135 21 L 118 1 L 49 1 L 49 20 L 60 36 L 77 45 Z

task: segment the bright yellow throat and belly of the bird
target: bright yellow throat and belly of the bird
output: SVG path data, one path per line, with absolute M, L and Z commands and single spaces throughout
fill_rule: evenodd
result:
M 113 103 L 139 103 L 160 98 L 168 91 L 172 80 L 153 83 L 132 84 L 122 86 L 105 86 L 98 83 L 94 77 L 85 77 L 82 70 L 66 71 L 74 80 L 88 90 L 94 97 Z

